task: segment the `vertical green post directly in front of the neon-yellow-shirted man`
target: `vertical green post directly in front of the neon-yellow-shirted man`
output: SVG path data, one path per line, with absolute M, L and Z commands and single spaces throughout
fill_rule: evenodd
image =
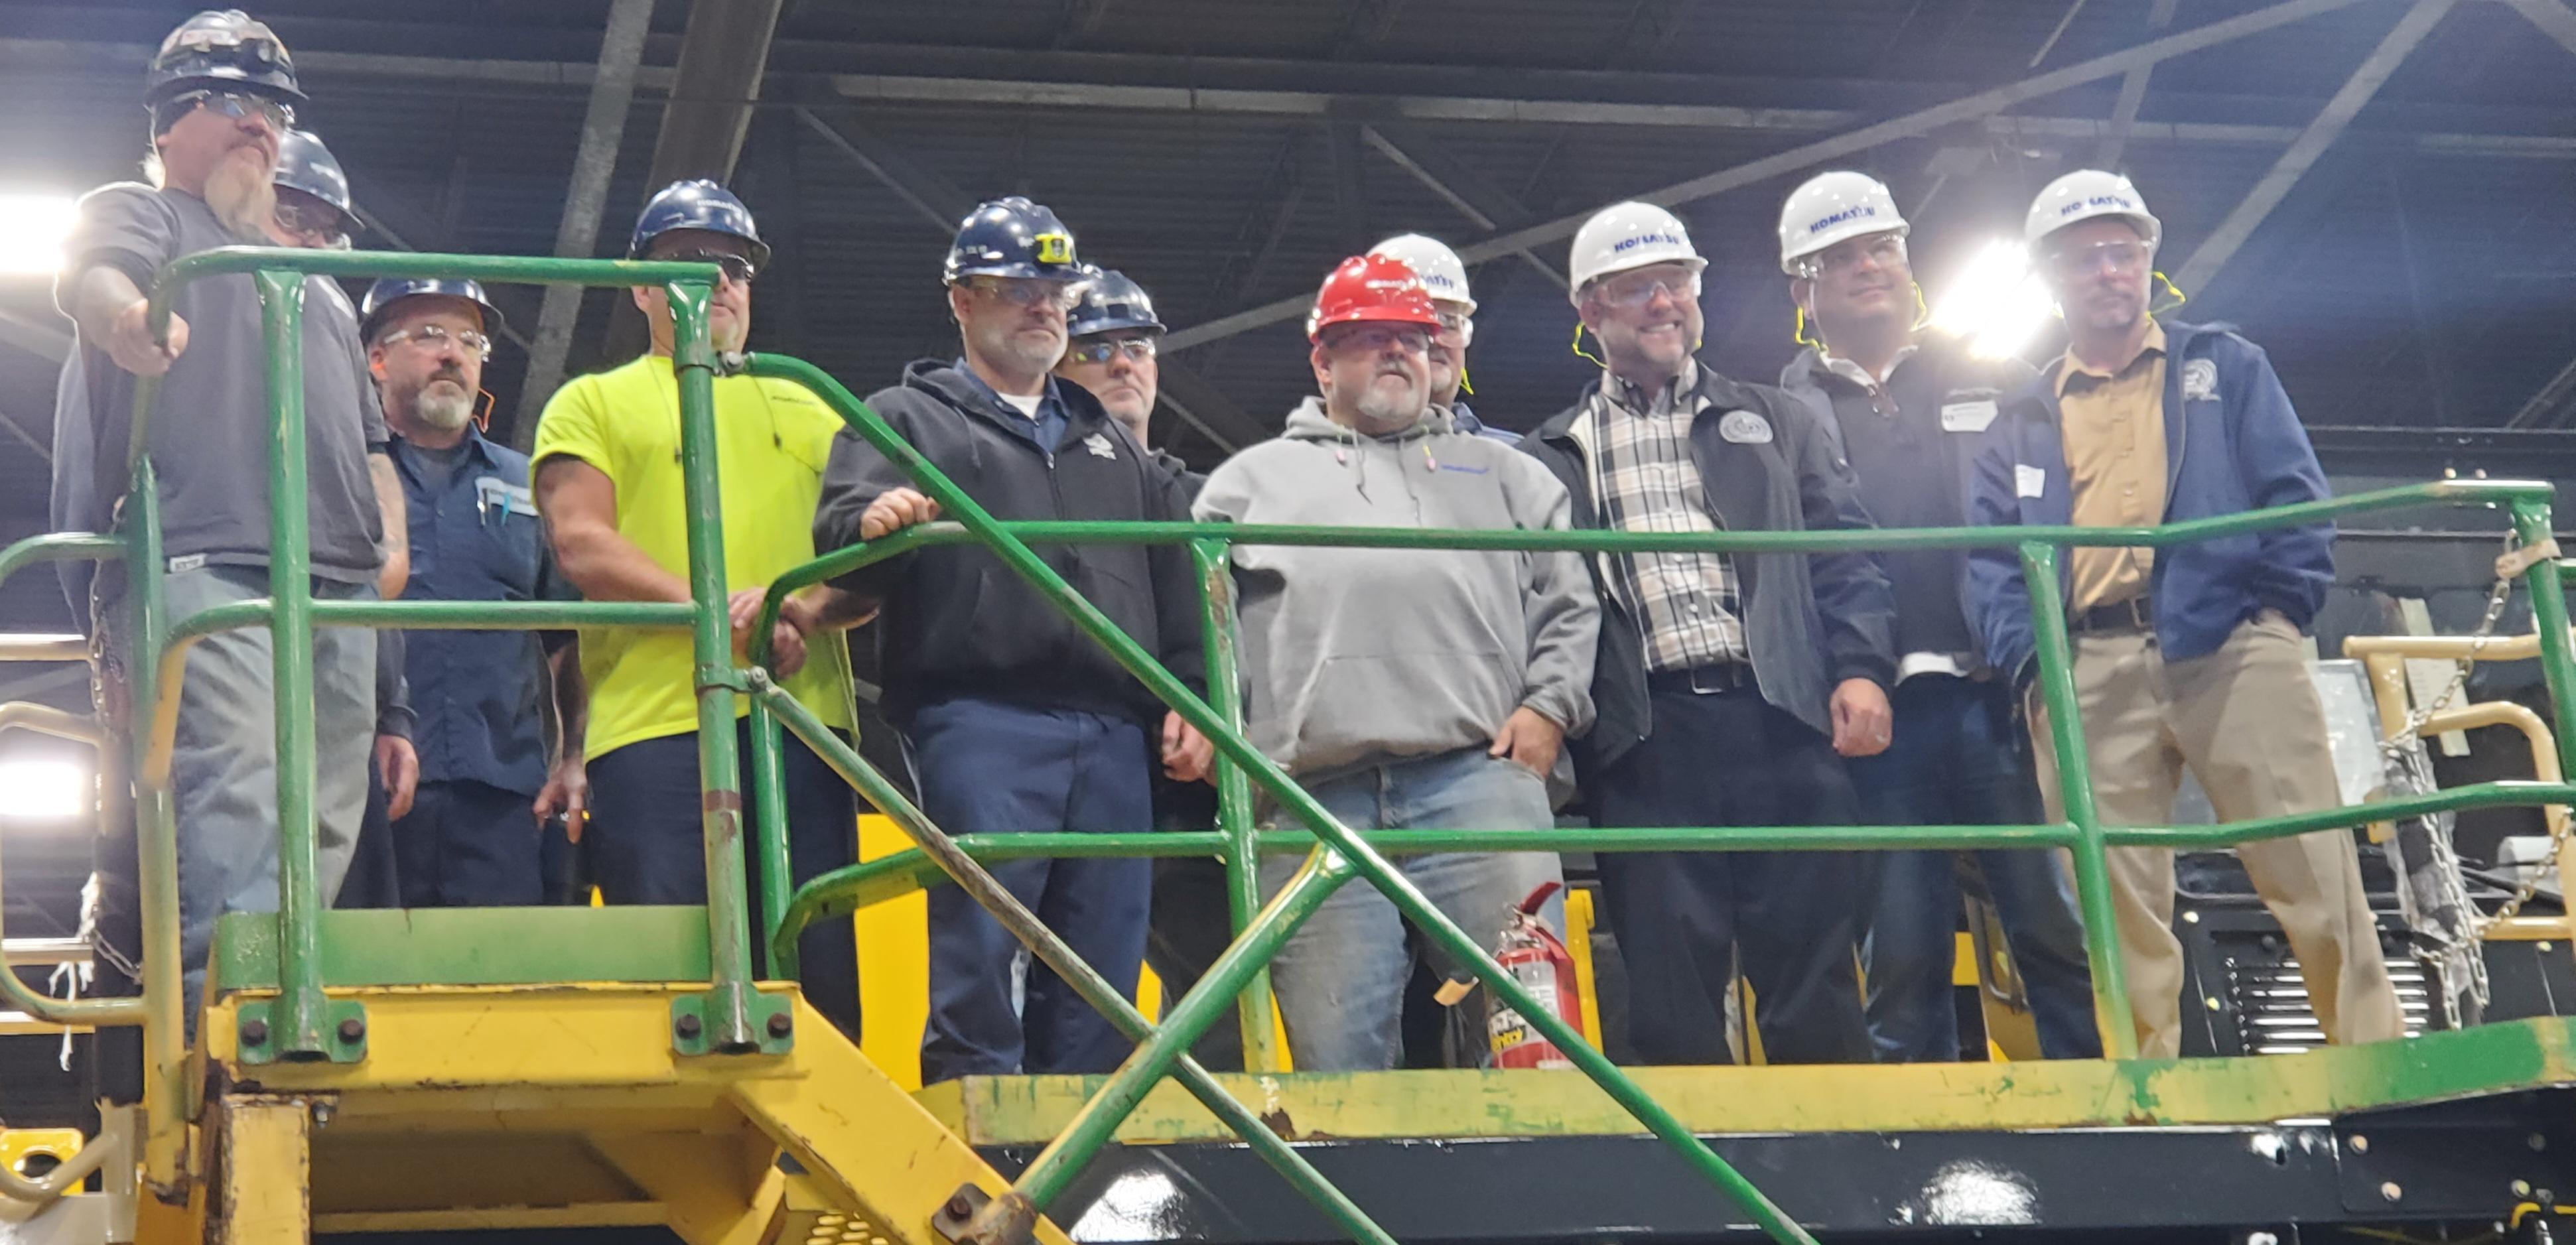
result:
M 688 595 L 698 670 L 698 791 L 706 830 L 706 1044 L 757 1049 L 752 936 L 742 892 L 742 768 L 734 748 L 734 624 L 724 608 L 724 497 L 716 472 L 716 353 L 706 340 L 706 281 L 670 281 L 672 379 L 680 384 L 680 482 L 688 497 Z

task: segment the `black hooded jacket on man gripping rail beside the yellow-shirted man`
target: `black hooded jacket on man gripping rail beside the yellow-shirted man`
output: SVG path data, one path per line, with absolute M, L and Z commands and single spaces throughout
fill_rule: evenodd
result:
M 907 366 L 904 384 L 868 394 L 868 407 L 994 518 L 1190 518 L 1180 485 L 1092 394 L 1079 384 L 1056 384 L 1056 397 L 1066 425 L 1051 454 L 1020 430 L 1025 418 L 1018 410 L 935 358 Z M 855 544 L 868 503 L 894 487 L 914 485 L 858 433 L 842 430 L 822 477 L 814 549 Z M 1206 686 L 1188 549 L 1033 549 L 1182 683 Z M 896 727 L 909 724 L 922 704 L 951 696 L 1121 714 L 1149 727 L 1162 722 L 1164 706 L 1144 683 L 981 544 L 920 549 L 835 583 L 884 601 L 886 717 Z

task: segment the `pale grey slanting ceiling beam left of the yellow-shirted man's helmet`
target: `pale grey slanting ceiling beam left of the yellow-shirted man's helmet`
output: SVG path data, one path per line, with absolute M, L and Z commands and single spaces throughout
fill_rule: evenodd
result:
M 600 214 L 608 211 L 608 178 L 616 175 L 618 147 L 626 142 L 626 113 L 634 108 L 647 31 L 652 31 L 652 0 L 616 0 L 608 8 L 600 64 L 590 80 L 590 106 L 582 108 L 582 142 L 572 152 L 572 183 L 564 188 L 564 217 L 554 224 L 556 258 L 587 260 L 598 255 Z M 546 286 L 536 309 L 536 338 L 528 343 L 528 379 L 518 387 L 518 412 L 510 418 L 510 443 L 523 454 L 536 443 L 536 418 L 564 381 L 572 327 L 580 320 L 582 286 Z

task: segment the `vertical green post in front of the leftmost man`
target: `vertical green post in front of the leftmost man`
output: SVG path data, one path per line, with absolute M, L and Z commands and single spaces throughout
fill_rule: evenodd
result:
M 278 717 L 278 1010 L 283 1057 L 330 1054 L 322 998 L 322 869 L 314 845 L 312 536 L 304 495 L 304 273 L 260 268 L 268 343 L 268 616 Z

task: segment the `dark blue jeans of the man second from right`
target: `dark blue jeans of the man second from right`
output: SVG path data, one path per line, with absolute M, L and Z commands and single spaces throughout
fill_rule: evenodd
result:
M 1852 760 L 1862 820 L 1873 825 L 2038 825 L 2040 789 L 2012 737 L 2004 683 L 1914 675 L 1896 686 L 1888 750 Z M 1868 912 L 1870 1041 L 1878 1062 L 1958 1059 L 1950 964 L 1960 892 L 1947 851 L 1878 853 Z M 1978 851 L 1986 892 L 2004 920 L 2030 992 L 2040 1052 L 2099 1059 L 2092 969 L 2074 887 L 2056 851 Z

